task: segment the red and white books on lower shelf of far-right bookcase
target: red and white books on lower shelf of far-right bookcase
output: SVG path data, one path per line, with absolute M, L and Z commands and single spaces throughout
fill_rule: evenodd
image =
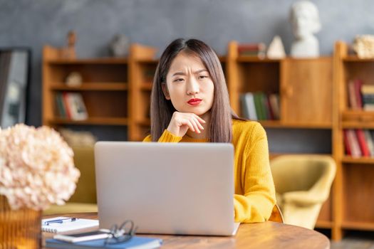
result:
M 345 129 L 346 154 L 352 157 L 374 157 L 374 131 L 368 129 Z

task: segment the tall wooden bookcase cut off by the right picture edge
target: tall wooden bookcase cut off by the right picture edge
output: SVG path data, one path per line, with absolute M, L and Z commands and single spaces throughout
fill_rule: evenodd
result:
M 337 162 L 334 184 L 333 239 L 340 240 L 345 229 L 374 231 L 374 158 L 345 154 L 344 129 L 374 129 L 374 112 L 352 110 L 348 105 L 348 82 L 360 79 L 374 83 L 374 59 L 348 54 L 348 45 L 338 41 L 334 48 L 336 118 L 333 147 Z

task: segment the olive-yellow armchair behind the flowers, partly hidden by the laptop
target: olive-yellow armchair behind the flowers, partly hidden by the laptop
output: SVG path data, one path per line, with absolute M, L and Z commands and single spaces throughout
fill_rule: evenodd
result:
M 73 196 L 63 206 L 53 205 L 43 214 L 97 212 L 93 147 L 72 147 L 80 178 Z

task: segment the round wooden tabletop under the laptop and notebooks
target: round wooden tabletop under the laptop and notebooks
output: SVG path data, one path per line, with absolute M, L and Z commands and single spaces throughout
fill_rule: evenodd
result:
M 98 218 L 97 213 L 68 213 L 58 216 Z M 233 237 L 137 235 L 162 238 L 162 248 L 330 248 L 330 241 L 321 233 L 272 221 L 241 224 L 237 235 Z M 52 236 L 51 233 L 43 233 L 43 245 L 44 240 Z

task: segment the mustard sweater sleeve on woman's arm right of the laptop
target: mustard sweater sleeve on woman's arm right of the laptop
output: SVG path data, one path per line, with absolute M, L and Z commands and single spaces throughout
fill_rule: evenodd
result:
M 276 197 L 266 132 L 261 124 L 255 125 L 247 141 L 244 195 L 234 195 L 235 222 L 263 222 L 271 216 Z

